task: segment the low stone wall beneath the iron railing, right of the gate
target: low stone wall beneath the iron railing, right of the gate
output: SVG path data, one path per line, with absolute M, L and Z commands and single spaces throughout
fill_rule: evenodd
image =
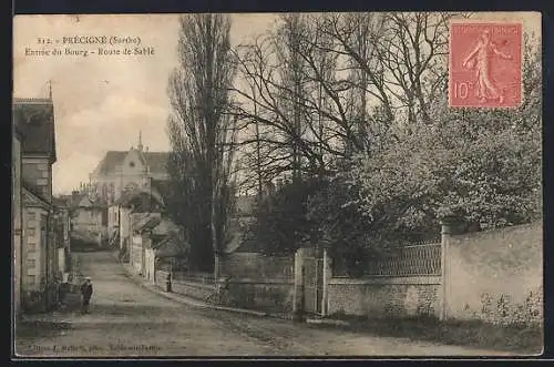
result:
M 328 285 L 328 313 L 371 317 L 435 316 L 439 287 L 439 276 L 332 278 Z

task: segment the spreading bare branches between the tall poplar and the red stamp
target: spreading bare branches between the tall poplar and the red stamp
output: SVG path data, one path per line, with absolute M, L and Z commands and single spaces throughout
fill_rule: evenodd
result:
M 401 130 L 438 123 L 431 110 L 444 93 L 452 17 L 287 16 L 275 31 L 239 47 L 247 88 L 236 85 L 234 93 L 247 102 L 237 113 L 261 131 L 240 144 L 260 145 L 261 175 L 321 174 L 353 153 L 394 142 Z

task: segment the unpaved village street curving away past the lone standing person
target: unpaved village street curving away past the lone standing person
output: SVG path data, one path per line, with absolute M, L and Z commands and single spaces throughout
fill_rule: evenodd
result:
M 107 252 L 79 256 L 81 273 L 94 284 L 91 314 L 24 323 L 19 356 L 505 355 L 195 308 L 136 284 Z

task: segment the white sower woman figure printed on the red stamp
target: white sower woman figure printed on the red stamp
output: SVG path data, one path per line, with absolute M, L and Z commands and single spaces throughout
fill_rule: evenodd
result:
M 496 48 L 496 44 L 491 41 L 490 31 L 485 29 L 473 51 L 463 61 L 464 68 L 475 68 L 478 79 L 476 96 L 482 103 L 488 99 L 499 100 L 500 103 L 504 102 L 504 95 L 496 88 L 491 74 L 491 62 L 494 55 L 507 60 L 512 59 L 511 55 Z

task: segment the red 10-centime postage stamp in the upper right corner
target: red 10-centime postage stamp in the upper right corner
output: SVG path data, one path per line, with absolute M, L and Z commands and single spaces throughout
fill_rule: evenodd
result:
M 523 98 L 522 40 L 519 22 L 452 22 L 450 106 L 519 106 Z

